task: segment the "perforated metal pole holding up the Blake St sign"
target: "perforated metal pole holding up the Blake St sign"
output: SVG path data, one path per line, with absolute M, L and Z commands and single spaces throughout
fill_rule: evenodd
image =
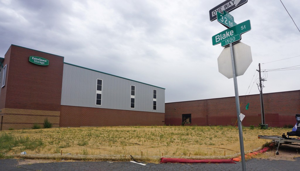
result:
M 246 171 L 243 131 L 242 131 L 242 124 L 241 124 L 241 119 L 240 119 L 241 109 L 240 109 L 240 100 L 238 98 L 238 81 L 236 79 L 235 60 L 234 60 L 232 43 L 230 43 L 229 46 L 230 46 L 230 53 L 231 53 L 231 64 L 232 64 L 233 82 L 234 82 L 234 91 L 235 91 L 236 113 L 237 113 L 237 118 L 238 118 L 238 135 L 239 135 L 239 139 L 240 139 L 242 170 Z

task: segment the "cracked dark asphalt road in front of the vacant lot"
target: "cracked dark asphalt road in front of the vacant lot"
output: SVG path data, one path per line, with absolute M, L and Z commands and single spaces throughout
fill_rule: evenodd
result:
M 19 159 L 22 160 L 22 159 Z M 300 170 L 300 157 L 295 161 L 250 159 L 246 161 L 247 171 L 295 171 Z M 131 162 L 109 161 L 76 161 L 76 162 L 53 162 L 18 165 L 17 159 L 0 160 L 0 171 L 81 171 L 81 170 L 209 170 L 209 171 L 239 171 L 242 170 L 241 162 L 236 164 L 146 164 L 145 166 Z

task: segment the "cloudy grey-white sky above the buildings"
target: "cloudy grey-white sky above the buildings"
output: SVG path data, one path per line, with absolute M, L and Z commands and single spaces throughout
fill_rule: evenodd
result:
M 0 0 L 0 57 L 10 44 L 61 55 L 166 88 L 166 102 L 235 96 L 233 79 L 218 72 L 223 47 L 212 46 L 226 28 L 208 11 L 223 1 Z M 300 27 L 300 2 L 282 2 Z M 237 77 L 239 95 L 259 94 L 258 63 L 269 71 L 264 93 L 299 90 L 300 32 L 280 0 L 249 0 L 230 14 L 236 23 L 250 19 L 252 28 L 241 40 L 253 62 Z M 286 67 L 293 70 L 270 70 Z

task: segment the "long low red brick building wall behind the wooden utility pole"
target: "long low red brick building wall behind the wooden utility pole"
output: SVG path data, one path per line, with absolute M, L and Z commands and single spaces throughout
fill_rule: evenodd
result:
M 246 116 L 242 125 L 261 123 L 259 95 L 240 96 L 239 100 L 241 113 Z M 300 90 L 263 94 L 263 100 L 265 123 L 270 127 L 296 123 L 295 114 L 300 113 Z M 246 110 L 245 106 L 248 103 L 249 109 Z M 192 114 L 191 124 L 186 125 L 235 125 L 235 97 L 166 103 L 166 125 L 181 125 L 182 114 Z

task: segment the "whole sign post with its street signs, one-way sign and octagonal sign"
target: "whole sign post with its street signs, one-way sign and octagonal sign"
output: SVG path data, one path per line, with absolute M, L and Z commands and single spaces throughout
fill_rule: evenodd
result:
M 212 37 L 212 45 L 221 43 L 221 46 L 226 46 L 228 44 L 230 46 L 231 65 L 232 65 L 234 91 L 235 91 L 235 104 L 236 104 L 236 113 L 237 113 L 237 118 L 238 118 L 238 135 L 239 135 L 239 139 L 240 139 L 241 162 L 242 162 L 242 170 L 243 171 L 246 171 L 246 163 L 245 163 L 245 152 L 244 152 L 244 142 L 243 142 L 243 131 L 242 131 L 242 124 L 241 124 L 241 119 L 240 119 L 241 110 L 240 110 L 240 100 L 238 98 L 238 81 L 236 79 L 237 71 L 236 71 L 236 67 L 235 67 L 235 58 L 234 58 L 232 43 L 236 42 L 236 41 L 240 41 L 241 34 L 251 30 L 251 24 L 250 24 L 250 20 L 244 21 L 240 24 L 236 24 L 234 22 L 233 16 L 230 15 L 228 12 L 247 3 L 247 1 L 248 0 L 226 0 L 226 1 L 222 2 L 221 4 L 217 5 L 216 7 L 212 8 L 211 10 L 209 10 L 210 21 L 217 19 L 218 22 L 220 22 L 223 26 L 228 28 L 228 29 L 224 30 L 223 32 L 220 32 L 217 35 L 214 35 Z M 223 14 L 220 13 L 221 11 L 223 11 Z M 240 45 L 243 45 L 243 44 L 240 43 Z M 250 53 L 251 53 L 251 50 L 247 50 L 247 49 L 250 49 L 250 47 L 249 48 L 248 47 L 240 47 L 240 46 L 236 46 L 236 47 L 238 50 L 250 51 Z M 240 47 L 240 48 L 238 48 L 238 47 Z M 224 48 L 224 50 L 225 50 L 225 48 Z M 250 54 L 250 53 L 246 52 L 245 54 Z M 240 56 L 241 54 L 238 54 L 238 55 Z M 251 55 L 246 55 L 246 56 L 247 56 L 247 59 L 251 58 L 251 61 L 248 60 L 251 63 L 252 62 Z M 221 66 L 218 66 L 219 72 L 220 72 L 220 68 L 226 67 L 226 61 L 223 61 L 223 58 L 224 58 L 224 55 L 222 55 L 222 53 L 221 53 L 221 55 L 218 58 L 218 65 L 221 64 Z M 226 55 L 225 55 L 225 58 L 226 58 Z M 239 65 L 238 67 L 242 68 L 243 71 L 238 74 L 239 75 L 244 74 L 244 71 L 247 70 L 250 63 L 247 62 L 247 64 L 245 64 L 245 65 Z M 226 73 L 226 72 L 224 72 L 224 70 L 221 69 L 221 71 L 222 71 L 221 73 L 223 75 L 225 75 L 227 78 L 232 78 L 230 75 L 224 74 L 224 73 Z

